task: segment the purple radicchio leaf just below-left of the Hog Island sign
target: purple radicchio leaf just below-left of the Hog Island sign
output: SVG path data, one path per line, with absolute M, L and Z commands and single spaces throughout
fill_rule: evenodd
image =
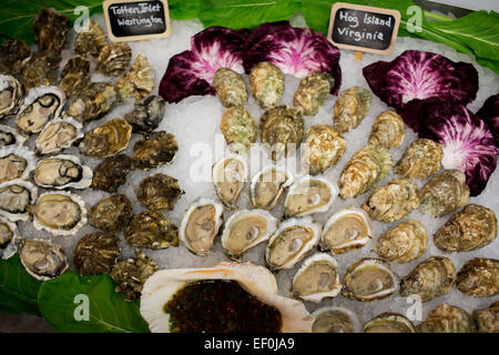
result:
M 287 21 L 267 22 L 258 26 L 246 39 L 244 69 L 269 61 L 285 74 L 299 79 L 312 72 L 327 72 L 335 83 L 332 94 L 337 94 L 342 84 L 339 50 L 327 39 L 309 28 L 294 28 Z

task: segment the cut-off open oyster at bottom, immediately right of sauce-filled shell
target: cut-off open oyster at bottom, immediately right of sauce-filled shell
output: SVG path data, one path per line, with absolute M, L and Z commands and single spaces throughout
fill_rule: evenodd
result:
M 358 315 L 345 307 L 325 306 L 312 314 L 312 333 L 360 333 Z

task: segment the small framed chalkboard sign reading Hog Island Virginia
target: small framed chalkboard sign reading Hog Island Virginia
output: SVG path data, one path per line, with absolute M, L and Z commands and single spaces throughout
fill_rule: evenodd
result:
M 399 24 L 397 10 L 336 2 L 330 10 L 327 39 L 338 48 L 390 54 Z

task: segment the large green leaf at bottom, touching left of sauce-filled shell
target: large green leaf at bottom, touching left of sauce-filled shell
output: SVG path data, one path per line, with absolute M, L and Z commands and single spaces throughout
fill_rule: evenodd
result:
M 43 283 L 38 296 L 40 312 L 57 332 L 149 332 L 139 302 L 126 302 L 124 294 L 116 293 L 114 287 L 106 274 L 80 276 L 68 272 Z M 75 320 L 75 315 L 81 315 L 78 307 L 84 305 L 75 303 L 78 295 L 89 297 L 89 321 Z

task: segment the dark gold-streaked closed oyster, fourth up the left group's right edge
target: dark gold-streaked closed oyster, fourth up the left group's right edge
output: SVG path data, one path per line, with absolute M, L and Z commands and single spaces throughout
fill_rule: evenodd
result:
M 166 131 L 157 131 L 135 143 L 133 160 L 136 168 L 147 171 L 173 163 L 177 151 L 179 142 L 175 135 Z

